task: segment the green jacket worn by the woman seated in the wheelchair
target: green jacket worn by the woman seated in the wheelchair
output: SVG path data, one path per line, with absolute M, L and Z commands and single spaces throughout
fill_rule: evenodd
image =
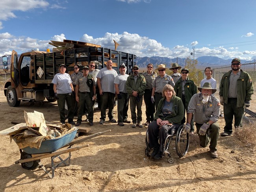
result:
M 168 120 L 172 124 L 181 124 L 184 118 L 184 106 L 182 100 L 177 96 L 173 96 L 171 102 L 173 102 L 173 113 L 164 118 L 162 109 L 164 106 L 165 98 L 162 98 L 159 103 L 155 113 L 154 120 L 160 118 L 161 120 Z

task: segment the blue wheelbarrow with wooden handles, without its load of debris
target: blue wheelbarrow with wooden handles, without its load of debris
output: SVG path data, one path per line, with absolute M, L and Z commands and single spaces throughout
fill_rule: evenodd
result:
M 54 170 L 58 168 L 61 164 L 65 164 L 65 166 L 70 165 L 70 158 L 71 152 L 77 151 L 82 148 L 88 147 L 89 145 L 83 146 L 76 146 L 73 147 L 74 144 L 78 144 L 84 142 L 85 140 L 97 137 L 99 135 L 103 135 L 104 133 L 110 132 L 111 130 L 102 131 L 99 133 L 95 133 L 85 138 L 80 138 L 74 140 L 78 128 L 74 131 L 70 132 L 69 134 L 64 135 L 63 137 L 55 138 L 55 139 L 48 139 L 44 140 L 41 143 L 39 149 L 37 148 L 30 148 L 26 147 L 20 149 L 20 159 L 15 161 L 15 164 L 21 164 L 22 168 L 27 170 L 34 170 L 39 166 L 45 171 L 45 173 L 50 177 L 54 177 Z M 74 140 L 74 141 L 72 141 Z M 61 148 L 67 148 L 63 150 L 59 150 Z M 59 151 L 57 151 L 59 150 Z M 66 159 L 62 159 L 60 157 L 61 154 L 69 153 L 69 156 Z M 51 167 L 50 170 L 46 169 L 45 166 L 42 164 L 41 159 L 45 159 L 47 157 L 51 157 Z M 59 163 L 54 164 L 54 159 L 58 158 L 60 160 Z

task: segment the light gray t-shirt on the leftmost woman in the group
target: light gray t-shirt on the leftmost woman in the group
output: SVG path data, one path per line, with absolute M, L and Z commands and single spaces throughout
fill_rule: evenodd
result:
M 57 85 L 57 94 L 66 94 L 72 92 L 70 83 L 72 83 L 69 74 L 58 73 L 52 79 L 52 83 Z

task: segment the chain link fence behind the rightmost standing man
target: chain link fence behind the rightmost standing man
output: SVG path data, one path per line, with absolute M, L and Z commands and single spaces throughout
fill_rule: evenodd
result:
M 247 72 L 250 77 L 252 78 L 252 82 L 254 83 L 254 93 L 255 93 L 255 83 L 256 83 L 256 60 L 254 61 L 247 61 L 246 63 L 242 63 L 241 69 Z M 217 81 L 217 91 L 214 94 L 216 98 L 219 99 L 219 85 L 221 83 L 221 78 L 223 75 L 231 70 L 230 65 L 224 65 L 219 68 L 213 68 L 213 75 L 212 77 Z M 206 78 L 204 74 L 204 70 L 200 71 L 203 74 L 203 77 Z M 203 78 L 203 79 L 204 79 Z M 202 79 L 201 79 L 202 80 Z M 221 106 L 221 112 L 223 111 L 223 106 Z M 253 123 L 256 122 L 256 94 L 252 95 L 252 100 L 250 102 L 250 107 L 245 108 L 245 116 L 243 117 L 243 124 Z

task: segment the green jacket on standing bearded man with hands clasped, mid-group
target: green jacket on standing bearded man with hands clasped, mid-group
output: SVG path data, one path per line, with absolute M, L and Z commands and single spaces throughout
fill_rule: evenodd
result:
M 132 91 L 137 91 L 139 96 L 144 95 L 146 89 L 146 79 L 143 75 L 138 74 L 137 81 L 135 83 L 134 75 L 131 74 L 126 80 L 126 90 L 128 95 L 132 96 Z

